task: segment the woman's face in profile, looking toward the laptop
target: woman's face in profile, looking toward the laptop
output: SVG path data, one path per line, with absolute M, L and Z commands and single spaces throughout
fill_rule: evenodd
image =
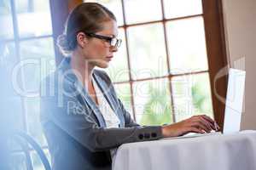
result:
M 117 37 L 118 26 L 115 20 L 109 20 L 103 23 L 103 30 L 95 32 L 96 35 L 105 37 Z M 117 52 L 117 48 L 110 46 L 108 41 L 97 37 L 90 37 L 83 48 L 83 54 L 88 64 L 107 68 L 113 58 L 113 53 Z

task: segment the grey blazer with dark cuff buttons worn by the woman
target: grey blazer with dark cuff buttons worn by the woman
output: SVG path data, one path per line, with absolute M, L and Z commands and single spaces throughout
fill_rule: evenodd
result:
M 162 138 L 160 126 L 140 126 L 118 99 L 105 71 L 92 76 L 119 117 L 118 128 L 106 128 L 101 111 L 63 59 L 41 84 L 41 122 L 53 170 L 111 169 L 110 151 L 120 144 Z

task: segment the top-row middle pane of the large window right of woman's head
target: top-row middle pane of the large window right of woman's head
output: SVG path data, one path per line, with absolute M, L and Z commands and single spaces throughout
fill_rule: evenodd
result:
M 162 20 L 160 0 L 125 0 L 127 24 Z

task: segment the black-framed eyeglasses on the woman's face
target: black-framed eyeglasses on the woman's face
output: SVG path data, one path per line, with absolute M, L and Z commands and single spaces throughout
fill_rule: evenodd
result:
M 84 32 L 84 34 L 86 34 L 89 37 L 96 37 L 98 39 L 108 42 L 108 45 L 109 45 L 109 46 L 107 46 L 108 48 L 110 48 L 110 47 L 119 48 L 122 43 L 122 40 L 118 39 L 116 37 L 102 36 L 102 35 L 98 35 L 95 33 L 87 33 L 87 32 Z

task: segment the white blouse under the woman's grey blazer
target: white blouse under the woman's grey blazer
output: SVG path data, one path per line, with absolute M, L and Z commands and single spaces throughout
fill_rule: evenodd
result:
M 95 91 L 96 91 L 98 107 L 99 107 L 99 110 L 102 112 L 102 116 L 106 122 L 106 126 L 108 128 L 119 127 L 119 124 L 120 124 L 119 118 L 118 118 L 118 116 L 116 116 L 116 114 L 113 112 L 113 109 L 108 104 L 107 99 L 105 99 L 104 95 L 102 94 L 102 91 L 98 87 L 96 81 L 94 80 L 94 77 L 92 77 L 92 83 L 93 83 L 93 87 L 95 88 Z M 110 150 L 112 159 L 115 156 L 116 150 L 117 149 Z

